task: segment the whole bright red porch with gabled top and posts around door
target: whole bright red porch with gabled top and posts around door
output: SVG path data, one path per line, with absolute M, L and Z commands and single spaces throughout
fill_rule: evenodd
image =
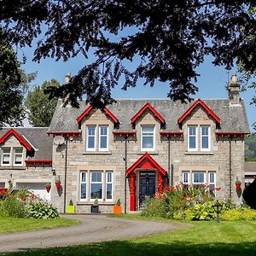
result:
M 158 171 L 158 193 L 163 190 L 163 179 L 167 176 L 167 172 L 163 169 L 153 157 L 146 152 L 140 157 L 131 167 L 126 170 L 126 176 L 131 178 L 130 183 L 130 211 L 136 210 L 136 174 L 135 171 L 139 169 L 141 171 L 152 170 Z

